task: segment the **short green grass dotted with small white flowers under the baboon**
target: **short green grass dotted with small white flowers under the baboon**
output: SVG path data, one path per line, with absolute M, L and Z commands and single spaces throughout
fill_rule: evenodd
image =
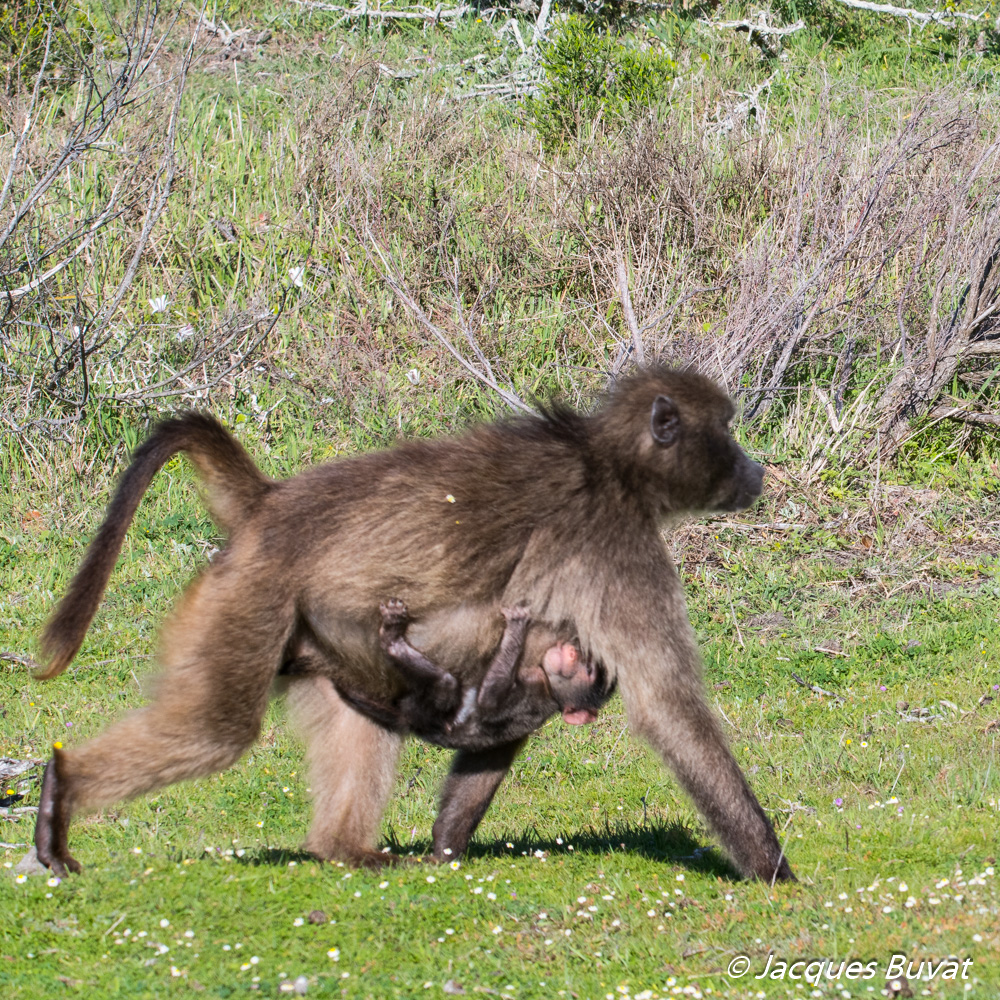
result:
M 39 684 L 4 664 L 0 755 L 44 757 L 53 740 L 85 738 L 140 703 L 155 624 L 214 538 L 188 480 L 175 466 L 156 483 L 71 670 Z M 514 997 L 666 996 L 674 986 L 799 995 L 789 980 L 748 985 L 725 974 L 737 954 L 759 974 L 769 951 L 838 965 L 956 955 L 973 960 L 972 995 L 995 995 L 1000 769 L 989 726 L 1000 714 L 1000 567 L 955 515 L 978 504 L 988 522 L 996 502 L 943 495 L 909 528 L 933 530 L 931 544 L 901 546 L 860 522 L 824 527 L 830 501 L 776 491 L 743 522 L 772 523 L 791 500 L 802 530 L 716 522 L 677 542 L 711 696 L 799 884 L 736 876 L 662 765 L 630 738 L 617 701 L 593 727 L 551 723 L 532 739 L 453 867 L 318 865 L 298 849 L 308 792 L 279 702 L 227 773 L 77 823 L 82 877 L 0 883 L 5 995 L 273 994 L 282 975 L 308 977 L 319 996 L 442 995 L 449 980 Z M 15 527 L 3 539 L 0 647 L 31 650 L 100 501 L 90 498 L 76 530 L 5 520 Z M 842 655 L 817 650 L 835 644 Z M 793 671 L 844 700 L 803 689 Z M 983 695 L 995 700 L 980 704 Z M 900 701 L 936 717 L 904 721 Z M 428 850 L 447 758 L 408 746 L 387 845 Z M 37 785 L 23 787 L 24 802 L 37 801 Z M 32 822 L 4 820 L 3 837 L 29 840 Z M 7 849 L 7 863 L 22 853 Z M 308 920 L 316 909 L 321 924 Z M 864 996 L 872 982 L 885 985 L 846 985 Z M 840 996 L 844 985 L 816 988 Z M 927 988 L 957 996 L 963 985 Z

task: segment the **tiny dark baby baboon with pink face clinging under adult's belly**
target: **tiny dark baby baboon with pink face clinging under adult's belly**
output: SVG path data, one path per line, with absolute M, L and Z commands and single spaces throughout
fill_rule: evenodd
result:
M 479 686 L 463 689 L 453 674 L 407 641 L 406 604 L 387 601 L 379 608 L 380 641 L 389 662 L 407 679 L 407 690 L 393 704 L 339 688 L 341 697 L 376 722 L 462 750 L 487 750 L 523 738 L 555 712 L 570 725 L 593 722 L 614 692 L 604 668 L 551 629 L 536 626 L 529 632 L 527 608 L 501 610 L 507 624 L 500 646 Z

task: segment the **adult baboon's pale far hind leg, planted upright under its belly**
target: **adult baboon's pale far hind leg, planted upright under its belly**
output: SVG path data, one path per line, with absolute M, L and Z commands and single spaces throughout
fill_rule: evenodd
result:
M 306 850 L 370 868 L 396 861 L 376 851 L 375 842 L 402 736 L 345 705 L 326 677 L 295 678 L 288 708 L 306 739 L 313 789 Z

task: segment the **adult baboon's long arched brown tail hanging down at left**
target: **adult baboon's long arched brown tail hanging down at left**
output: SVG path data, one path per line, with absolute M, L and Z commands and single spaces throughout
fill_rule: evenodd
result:
M 197 468 L 207 487 L 212 516 L 224 530 L 231 530 L 249 515 L 273 485 L 214 417 L 186 413 L 158 424 L 132 456 L 108 505 L 104 523 L 45 626 L 42 654 L 48 665 L 36 675 L 39 678 L 62 673 L 76 656 L 97 613 L 139 501 L 153 476 L 178 452 L 185 452 Z

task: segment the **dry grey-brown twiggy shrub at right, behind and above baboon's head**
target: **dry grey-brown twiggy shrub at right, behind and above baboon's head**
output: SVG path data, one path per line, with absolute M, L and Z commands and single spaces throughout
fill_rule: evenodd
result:
M 552 211 L 584 234 L 600 298 L 628 263 L 647 356 L 710 372 L 758 422 L 815 386 L 833 433 L 812 450 L 860 435 L 886 458 L 914 417 L 991 423 L 941 402 L 1000 353 L 988 111 L 940 93 L 899 119 L 880 139 L 864 116 L 718 138 L 647 119 L 583 157 Z

